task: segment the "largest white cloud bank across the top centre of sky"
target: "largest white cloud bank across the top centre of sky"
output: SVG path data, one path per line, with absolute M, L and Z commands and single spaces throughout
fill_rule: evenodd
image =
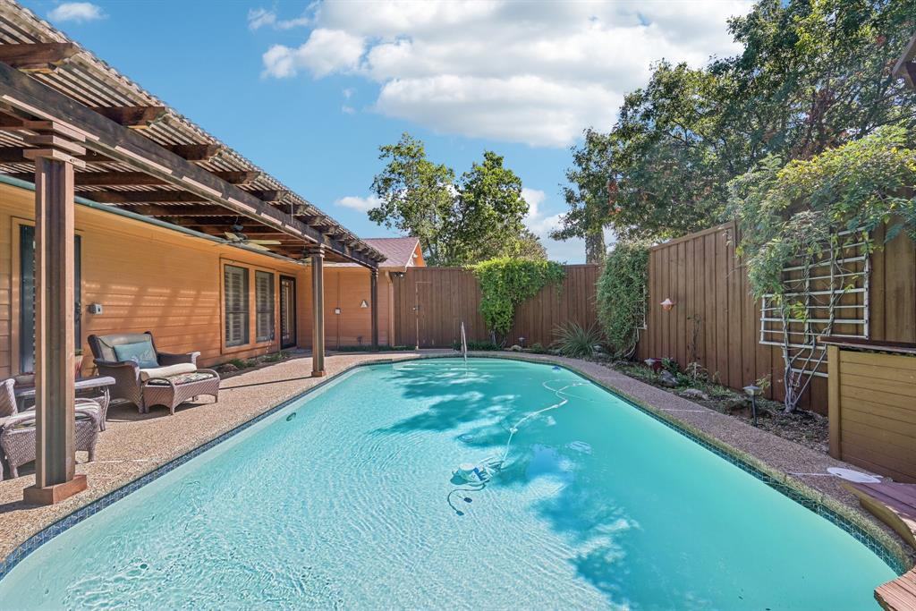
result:
M 273 47 L 265 71 L 355 74 L 375 109 L 444 134 L 565 147 L 609 127 L 652 62 L 700 66 L 736 50 L 725 21 L 749 0 L 327 0 L 298 49 Z

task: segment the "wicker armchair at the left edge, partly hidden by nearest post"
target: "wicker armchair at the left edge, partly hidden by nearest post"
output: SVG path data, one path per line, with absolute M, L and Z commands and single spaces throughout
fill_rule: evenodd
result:
M 12 379 L 0 382 L 0 406 L 16 406 Z M 89 398 L 77 398 L 75 406 L 76 421 L 73 425 L 73 446 L 76 450 L 89 453 L 89 462 L 95 460 L 95 443 L 99 439 L 99 419 L 103 409 L 96 401 Z M 5 412 L 9 414 L 7 410 Z M 10 475 L 19 476 L 19 467 L 35 460 L 35 410 L 14 411 L 0 418 L 0 452 L 3 453 Z M 3 479 L 3 467 L 0 464 L 0 479 Z

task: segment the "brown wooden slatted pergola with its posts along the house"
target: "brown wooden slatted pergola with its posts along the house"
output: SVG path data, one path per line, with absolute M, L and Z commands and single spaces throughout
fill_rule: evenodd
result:
M 385 259 L 330 216 L 12 0 L 0 0 L 0 172 L 35 183 L 36 484 L 86 487 L 73 450 L 74 198 L 311 265 L 312 374 L 324 375 L 323 262 Z M 263 250 L 264 246 L 258 249 Z

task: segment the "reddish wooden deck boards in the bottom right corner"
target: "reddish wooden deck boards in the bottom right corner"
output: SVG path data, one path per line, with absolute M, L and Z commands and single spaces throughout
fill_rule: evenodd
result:
M 862 507 L 875 514 L 916 549 L 916 485 L 882 482 L 845 483 Z M 916 611 L 916 569 L 875 590 L 878 603 L 888 611 Z

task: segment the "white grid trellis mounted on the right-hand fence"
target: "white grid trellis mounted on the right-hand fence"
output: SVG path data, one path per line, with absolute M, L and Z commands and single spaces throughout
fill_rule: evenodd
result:
M 851 235 L 843 232 L 839 236 Z M 856 232 L 861 235 L 861 232 Z M 838 246 L 830 256 L 807 265 L 783 268 L 787 291 L 780 299 L 764 295 L 760 303 L 760 344 L 783 348 L 797 375 L 826 377 L 825 347 L 832 337 L 868 338 L 868 287 L 871 267 L 864 240 Z M 791 317 L 785 300 L 802 317 Z

